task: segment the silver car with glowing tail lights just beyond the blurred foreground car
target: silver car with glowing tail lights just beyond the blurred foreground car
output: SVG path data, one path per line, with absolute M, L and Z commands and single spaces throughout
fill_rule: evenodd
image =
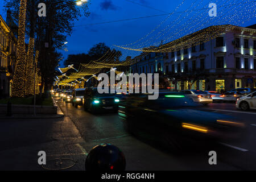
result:
M 186 97 L 191 98 L 194 102 L 198 102 L 200 104 L 207 105 L 213 101 L 210 94 L 202 90 L 182 90 L 181 93 L 183 93 Z

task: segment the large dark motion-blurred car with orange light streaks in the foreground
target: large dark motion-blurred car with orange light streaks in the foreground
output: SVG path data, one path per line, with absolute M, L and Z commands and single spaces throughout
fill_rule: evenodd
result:
M 162 143 L 172 151 L 195 140 L 241 137 L 244 124 L 230 115 L 205 111 L 180 92 L 159 93 L 157 100 L 147 94 L 130 94 L 121 101 L 118 115 L 127 131 Z

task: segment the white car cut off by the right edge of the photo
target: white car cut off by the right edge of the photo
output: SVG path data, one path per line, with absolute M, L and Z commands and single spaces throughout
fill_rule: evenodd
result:
M 242 110 L 256 109 L 256 91 L 237 98 L 236 107 Z

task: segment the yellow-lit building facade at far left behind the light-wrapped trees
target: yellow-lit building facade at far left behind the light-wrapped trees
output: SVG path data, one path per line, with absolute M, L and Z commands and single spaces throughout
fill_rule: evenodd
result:
M 0 15 L 0 97 L 10 96 L 16 62 L 17 39 Z

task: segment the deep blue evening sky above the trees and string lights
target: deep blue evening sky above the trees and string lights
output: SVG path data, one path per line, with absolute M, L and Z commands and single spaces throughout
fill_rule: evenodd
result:
M 137 2 L 142 5 L 138 5 L 132 2 Z M 253 1 L 253 0 L 251 0 Z M 101 23 L 101 22 L 108 22 L 112 20 L 119 20 L 119 19 L 129 19 L 129 18 L 138 18 L 141 16 L 151 16 L 151 15 L 160 15 L 160 14 L 166 14 L 170 13 L 175 10 L 175 8 L 180 5 L 180 3 L 183 2 L 183 0 L 90 0 L 89 5 L 89 11 L 90 16 L 89 17 L 81 17 L 77 22 L 75 22 L 75 27 L 73 28 L 72 36 L 67 38 L 68 44 L 68 52 L 61 51 L 64 55 L 64 59 L 67 58 L 68 54 L 76 54 L 76 53 L 87 53 L 88 50 L 94 45 L 99 42 L 106 43 L 107 46 L 112 47 L 113 44 L 116 45 L 124 45 L 133 43 L 136 40 L 142 38 L 143 36 L 147 35 L 148 32 L 150 32 L 153 28 L 155 28 L 160 22 L 162 22 L 164 19 L 167 18 L 168 15 L 164 16 L 155 16 L 151 18 L 143 18 L 143 19 L 135 19 L 135 20 L 127 20 L 123 22 L 114 22 L 114 23 L 105 23 L 105 24 L 95 24 L 95 23 Z M 226 3 L 226 5 L 229 5 L 229 3 L 239 3 L 239 2 L 245 2 L 242 0 L 185 0 L 185 3 L 180 6 L 180 9 L 177 11 L 185 11 L 186 9 L 191 9 L 190 6 L 192 3 L 195 2 L 195 9 L 202 9 L 205 6 L 209 5 L 209 2 L 214 2 L 217 4 L 217 17 L 210 19 L 208 16 L 209 10 L 203 10 L 201 11 L 203 13 L 203 16 L 196 16 L 197 20 L 195 22 L 190 22 L 189 27 L 196 25 L 196 23 L 200 23 L 199 26 L 195 26 L 195 30 L 201 29 L 204 27 L 208 27 L 213 24 L 221 24 L 217 22 L 217 20 L 224 19 L 225 17 L 229 17 L 228 13 L 224 13 L 224 16 L 218 16 L 220 15 L 220 11 L 218 9 L 218 5 L 222 5 L 223 3 Z M 255 3 L 255 2 L 254 2 Z M 3 0 L 0 0 L 0 7 L 3 6 Z M 148 6 L 148 7 L 146 7 Z M 245 6 L 245 5 L 242 5 Z M 149 8 L 151 7 L 151 8 Z M 238 8 L 239 6 L 237 6 Z M 241 7 L 240 7 L 241 8 Z M 154 10 L 156 9 L 156 10 Z M 225 7 L 223 11 L 227 11 L 228 7 Z M 196 12 L 196 11 L 195 11 Z M 230 11 L 230 14 L 232 14 L 233 11 Z M 3 18 L 6 18 L 5 12 L 0 11 Z M 189 14 L 189 15 L 188 15 Z M 168 26 L 168 23 L 177 18 L 180 15 L 180 13 L 176 13 L 170 16 L 170 18 L 167 20 L 167 22 L 164 22 L 162 26 L 156 30 L 152 35 L 158 34 L 160 30 L 162 30 L 164 27 Z M 185 16 L 188 15 L 188 16 Z M 181 18 L 184 17 L 184 21 L 189 19 L 193 15 L 193 12 L 190 13 L 183 13 L 181 15 Z M 200 19 L 203 19 L 204 17 L 208 17 L 207 19 L 210 21 L 208 23 L 200 22 Z M 239 18 L 241 19 L 241 18 Z M 238 20 L 239 20 L 238 19 Z M 211 23 L 212 22 L 212 23 Z M 233 22 L 236 22 L 236 20 L 233 20 Z M 238 26 L 249 26 L 251 24 L 255 24 L 256 18 L 251 19 L 250 21 L 245 21 L 245 23 L 237 23 Z M 184 22 L 180 22 L 177 24 L 174 24 L 174 27 L 171 28 L 171 30 L 162 35 L 162 38 L 168 37 L 168 35 L 173 34 L 179 28 L 184 27 Z M 227 21 L 223 22 L 223 24 L 227 24 Z M 235 24 L 235 23 L 233 23 Z M 180 34 L 177 34 L 175 36 L 176 38 L 179 38 L 180 36 L 183 36 L 183 33 L 186 34 L 186 32 L 181 31 Z M 160 35 L 160 34 L 159 34 Z M 150 36 L 148 37 L 150 38 Z M 159 38 L 161 40 L 162 38 Z M 155 39 L 152 39 L 155 40 Z M 139 42 L 142 43 L 143 41 Z M 151 42 L 151 43 L 154 43 Z M 151 44 L 148 44 L 151 45 Z M 148 46 L 147 45 L 147 46 Z M 135 46 L 136 47 L 136 44 Z M 112 47 L 114 48 L 114 47 Z

